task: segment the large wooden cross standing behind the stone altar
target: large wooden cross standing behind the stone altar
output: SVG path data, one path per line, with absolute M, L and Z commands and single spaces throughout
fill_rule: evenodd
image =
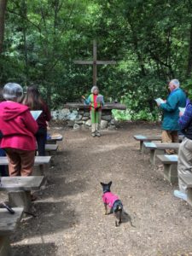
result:
M 96 85 L 96 65 L 115 64 L 116 61 L 97 61 L 96 60 L 96 40 L 93 41 L 93 61 L 74 61 L 75 64 L 93 65 L 93 85 Z

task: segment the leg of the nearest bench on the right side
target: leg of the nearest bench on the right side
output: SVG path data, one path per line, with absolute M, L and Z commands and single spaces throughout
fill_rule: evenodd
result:
M 177 183 L 177 164 L 164 164 L 164 177 L 169 183 Z

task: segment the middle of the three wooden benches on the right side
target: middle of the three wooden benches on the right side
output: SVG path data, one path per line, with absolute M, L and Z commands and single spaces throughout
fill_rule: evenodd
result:
M 150 151 L 150 163 L 155 164 L 156 154 L 165 154 L 165 149 L 178 150 L 180 143 L 143 143 L 144 148 Z

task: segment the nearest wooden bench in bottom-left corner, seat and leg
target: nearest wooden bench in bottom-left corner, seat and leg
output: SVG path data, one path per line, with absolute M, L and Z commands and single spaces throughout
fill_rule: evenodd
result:
M 22 217 L 23 208 L 13 208 L 14 214 L 7 209 L 0 208 L 0 256 L 11 256 L 9 236 L 15 231 L 17 224 Z

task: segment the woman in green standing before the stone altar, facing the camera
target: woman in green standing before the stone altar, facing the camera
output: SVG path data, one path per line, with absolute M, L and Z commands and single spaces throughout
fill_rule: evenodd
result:
M 91 94 L 86 99 L 84 96 L 85 104 L 90 105 L 90 120 L 91 120 L 91 135 L 92 137 L 100 137 L 100 123 L 102 119 L 102 106 L 104 105 L 103 96 L 99 94 L 97 86 L 93 86 L 90 90 Z

